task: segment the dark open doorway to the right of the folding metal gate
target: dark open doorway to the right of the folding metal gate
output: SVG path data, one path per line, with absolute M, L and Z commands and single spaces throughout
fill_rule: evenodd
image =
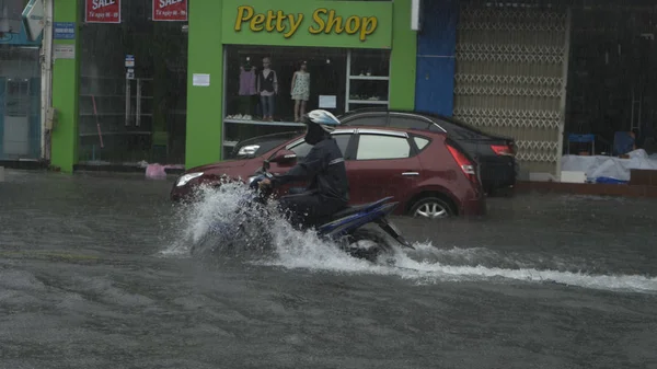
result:
M 616 132 L 632 132 L 637 147 L 655 139 L 656 35 L 653 8 L 573 11 L 565 128 L 595 135 L 596 154 L 614 151 Z

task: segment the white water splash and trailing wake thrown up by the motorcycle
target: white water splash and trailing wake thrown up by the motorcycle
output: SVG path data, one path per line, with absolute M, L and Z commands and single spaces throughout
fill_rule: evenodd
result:
M 246 195 L 243 184 L 226 184 L 222 189 L 204 188 L 197 201 L 180 211 L 183 237 L 162 252 L 188 255 L 191 246 L 207 239 L 211 224 L 219 220 L 238 221 L 239 200 Z M 257 218 L 257 214 L 250 216 Z M 249 263 L 339 274 L 397 276 L 417 284 L 442 281 L 551 282 L 613 291 L 657 292 L 657 277 L 607 275 L 586 272 L 584 261 L 567 261 L 539 254 L 511 254 L 485 247 L 438 249 L 430 242 L 416 243 L 416 250 L 399 250 L 394 266 L 374 265 L 339 251 L 312 231 L 293 229 L 280 215 L 263 219 L 268 227 L 273 254 L 252 254 Z M 222 245 L 218 245 L 221 247 Z

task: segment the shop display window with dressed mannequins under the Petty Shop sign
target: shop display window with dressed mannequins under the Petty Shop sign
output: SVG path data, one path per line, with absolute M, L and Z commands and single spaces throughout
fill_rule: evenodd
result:
M 387 107 L 389 65 L 389 50 L 227 46 L 224 154 L 249 138 L 298 130 L 315 108 L 339 116 Z

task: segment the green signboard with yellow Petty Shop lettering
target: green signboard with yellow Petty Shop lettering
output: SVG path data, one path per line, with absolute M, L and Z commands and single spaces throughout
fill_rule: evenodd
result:
M 392 1 L 224 0 L 223 44 L 392 47 Z

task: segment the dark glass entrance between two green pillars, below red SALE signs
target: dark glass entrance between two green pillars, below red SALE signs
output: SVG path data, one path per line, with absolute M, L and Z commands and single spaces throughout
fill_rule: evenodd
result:
M 151 7 L 122 1 L 120 24 L 83 25 L 80 164 L 185 162 L 186 23 L 153 22 Z

